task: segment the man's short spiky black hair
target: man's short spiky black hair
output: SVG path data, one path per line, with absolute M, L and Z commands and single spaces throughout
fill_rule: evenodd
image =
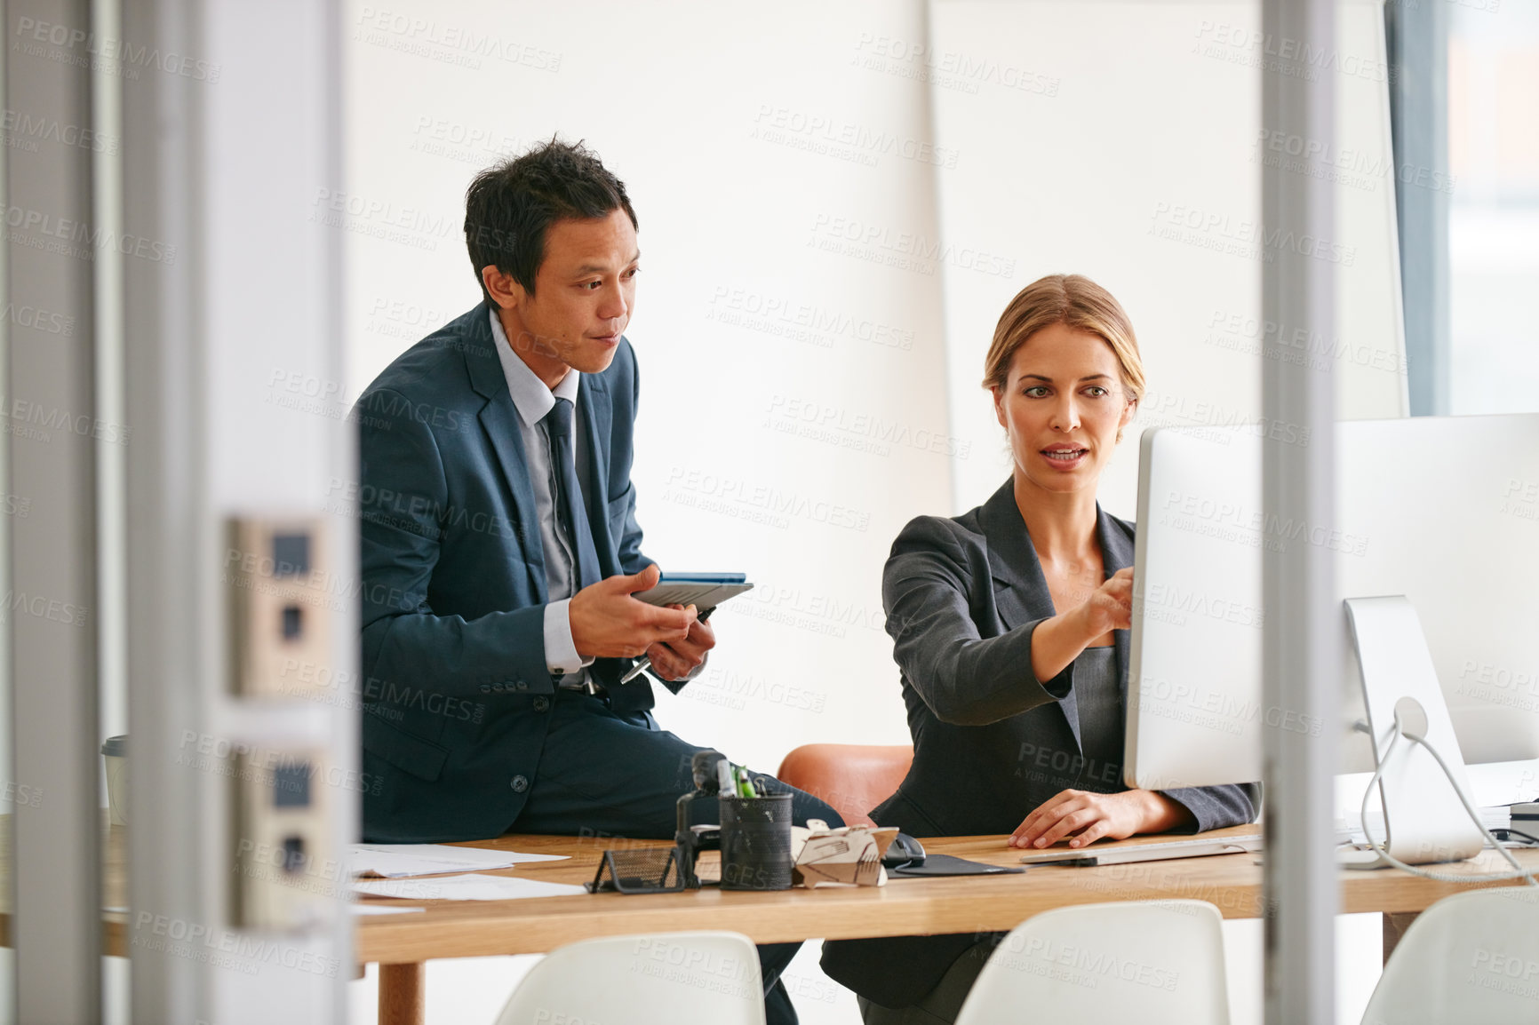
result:
M 591 220 L 623 209 L 636 223 L 625 183 L 582 142 L 551 139 L 476 175 L 465 192 L 465 246 L 476 283 L 491 302 L 482 268 L 496 266 L 534 294 L 545 260 L 545 232 L 565 217 Z

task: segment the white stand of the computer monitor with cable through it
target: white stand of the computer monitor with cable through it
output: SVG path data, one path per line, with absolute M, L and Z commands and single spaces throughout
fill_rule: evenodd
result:
M 1437 686 L 1437 671 L 1416 606 L 1400 594 L 1347 599 L 1345 605 L 1362 671 L 1374 763 L 1384 759 L 1399 711 L 1405 731 L 1425 737 L 1437 748 L 1457 786 L 1468 794 L 1464 754 Z M 1419 743 L 1402 739 L 1394 745 L 1379 777 L 1379 797 L 1385 836 L 1374 839 L 1408 865 L 1459 862 L 1474 857 L 1485 845 L 1448 776 Z M 1388 866 L 1376 851 L 1344 854 L 1337 860 L 1348 868 Z

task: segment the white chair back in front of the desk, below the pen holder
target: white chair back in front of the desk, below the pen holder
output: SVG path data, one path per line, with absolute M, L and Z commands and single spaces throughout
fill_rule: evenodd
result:
M 609 936 L 559 947 L 497 1025 L 765 1025 L 759 951 L 742 933 Z

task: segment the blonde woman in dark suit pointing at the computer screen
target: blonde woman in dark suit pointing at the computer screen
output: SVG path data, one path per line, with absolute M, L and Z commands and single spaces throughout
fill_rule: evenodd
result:
M 1143 392 L 1128 316 L 1090 279 L 1043 277 L 999 319 L 983 386 L 1010 480 L 962 516 L 913 520 L 882 576 L 914 763 L 873 819 L 1020 848 L 1251 822 L 1254 785 L 1122 783 L 1133 525 L 1096 486 Z M 826 943 L 823 970 L 866 1025 L 953 1022 L 999 936 Z

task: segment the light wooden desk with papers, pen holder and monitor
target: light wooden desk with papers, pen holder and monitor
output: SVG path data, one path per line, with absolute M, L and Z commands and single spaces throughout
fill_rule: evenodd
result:
M 1213 836 L 1250 831 L 1219 830 Z M 1168 837 L 1139 837 L 1150 843 Z M 994 865 L 1019 863 L 1003 837 L 923 840 L 926 851 Z M 588 882 L 605 850 L 668 846 L 665 842 L 591 837 L 505 836 L 468 846 L 569 854 L 565 862 L 537 862 L 497 874 Z M 1539 851 L 1517 857 L 1539 868 Z M 596 936 L 733 930 L 760 943 L 810 937 L 857 939 L 1011 930 L 1022 920 L 1074 903 L 1103 900 L 1196 899 L 1216 905 L 1227 919 L 1264 917 L 1262 871 L 1256 854 L 1220 854 L 1103 868 L 1030 868 L 1020 876 L 890 879 L 886 886 L 823 886 L 776 893 L 706 888 L 673 894 L 583 894 L 534 900 L 402 900 L 422 914 L 366 916 L 359 922 L 357 957 L 380 962 L 380 1025 L 420 1025 L 423 962 L 434 957 L 528 954 Z M 1441 871 L 1479 876 L 1501 871 L 1494 851 Z M 1496 883 L 1501 885 L 1501 883 Z M 1407 914 L 1465 890 L 1407 873 L 1344 871 L 1340 911 Z M 1402 919 L 1404 920 L 1404 919 Z

